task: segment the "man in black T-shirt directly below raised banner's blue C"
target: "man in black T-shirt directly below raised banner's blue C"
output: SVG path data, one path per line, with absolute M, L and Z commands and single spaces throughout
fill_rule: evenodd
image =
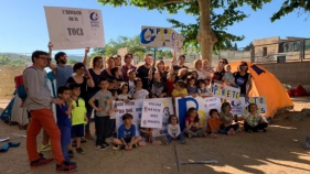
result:
M 152 67 L 153 64 L 153 56 L 152 54 L 148 54 L 145 57 L 145 64 L 139 66 L 137 69 L 137 77 L 142 79 L 142 88 L 149 90 L 150 89 L 150 81 L 152 78 L 152 74 L 156 70 Z

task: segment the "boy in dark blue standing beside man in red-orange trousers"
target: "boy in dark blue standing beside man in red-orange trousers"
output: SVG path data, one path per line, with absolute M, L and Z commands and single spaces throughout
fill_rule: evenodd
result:
M 66 86 L 60 86 L 57 88 L 57 95 L 61 100 L 65 102 L 65 106 L 56 106 L 56 116 L 57 116 L 57 126 L 61 131 L 61 144 L 63 155 L 67 163 L 75 163 L 71 162 L 67 154 L 67 145 L 71 143 L 71 121 L 68 116 L 73 109 L 72 107 L 72 98 L 70 97 L 70 88 Z

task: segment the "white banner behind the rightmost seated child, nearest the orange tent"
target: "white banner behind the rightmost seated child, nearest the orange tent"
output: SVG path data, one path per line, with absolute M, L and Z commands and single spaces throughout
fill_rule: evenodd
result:
M 247 107 L 249 104 L 257 105 L 258 113 L 264 115 L 267 112 L 267 102 L 265 97 L 249 97 L 249 98 L 240 97 L 239 101 L 231 101 L 231 106 L 232 106 L 231 112 L 234 115 L 245 115 L 248 112 Z

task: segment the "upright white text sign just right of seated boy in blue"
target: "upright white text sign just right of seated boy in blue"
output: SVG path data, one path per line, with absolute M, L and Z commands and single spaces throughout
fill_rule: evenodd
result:
M 162 127 L 162 111 L 161 102 L 143 101 L 142 107 L 142 128 L 161 128 Z

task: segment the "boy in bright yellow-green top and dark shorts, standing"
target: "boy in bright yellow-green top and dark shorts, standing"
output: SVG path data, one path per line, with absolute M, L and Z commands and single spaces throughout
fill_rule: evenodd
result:
M 86 105 L 83 98 L 79 98 L 81 88 L 78 84 L 71 84 L 70 88 L 72 90 L 72 106 L 73 109 L 71 111 L 71 149 L 73 140 L 76 140 L 76 152 L 84 153 L 84 150 L 81 148 L 81 139 L 84 137 L 84 124 L 88 122 L 86 117 Z M 73 157 L 73 151 L 68 151 L 70 157 Z

